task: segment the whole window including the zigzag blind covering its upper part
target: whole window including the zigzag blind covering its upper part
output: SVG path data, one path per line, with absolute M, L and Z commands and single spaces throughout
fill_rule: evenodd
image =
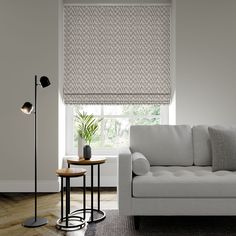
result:
M 154 2 L 64 5 L 67 155 L 77 154 L 78 110 L 103 118 L 93 154 L 128 146 L 130 125 L 168 124 L 171 1 Z

